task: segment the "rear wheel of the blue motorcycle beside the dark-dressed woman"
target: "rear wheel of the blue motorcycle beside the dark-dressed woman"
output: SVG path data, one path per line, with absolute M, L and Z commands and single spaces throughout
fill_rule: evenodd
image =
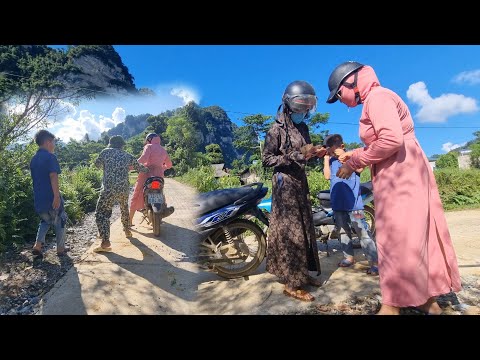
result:
M 226 265 L 215 265 L 214 270 L 219 276 L 226 279 L 250 275 L 260 266 L 265 258 L 267 250 L 265 234 L 258 225 L 246 219 L 234 220 L 227 227 L 232 235 L 233 242 L 236 245 L 246 246 L 249 255 L 244 260 L 233 260 L 229 264 L 227 264 L 229 260 L 226 258 Z M 219 242 L 227 244 L 225 233 L 221 228 L 211 236 L 211 239 L 215 244 Z

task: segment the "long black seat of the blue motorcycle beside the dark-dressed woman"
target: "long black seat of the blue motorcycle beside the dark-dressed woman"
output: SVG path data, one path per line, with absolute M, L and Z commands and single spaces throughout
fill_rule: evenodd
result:
M 200 214 L 205 214 L 228 204 L 233 204 L 243 197 L 249 198 L 249 195 L 253 197 L 257 191 L 253 187 L 214 190 L 200 194 L 195 206 Z

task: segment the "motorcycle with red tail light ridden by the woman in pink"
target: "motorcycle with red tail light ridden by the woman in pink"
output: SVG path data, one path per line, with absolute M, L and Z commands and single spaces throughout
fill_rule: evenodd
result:
M 167 207 L 163 188 L 165 180 L 160 176 L 151 176 L 145 180 L 143 185 L 144 208 L 141 210 L 143 221 L 153 226 L 153 235 L 160 236 L 160 225 L 162 219 L 171 215 L 175 209 Z

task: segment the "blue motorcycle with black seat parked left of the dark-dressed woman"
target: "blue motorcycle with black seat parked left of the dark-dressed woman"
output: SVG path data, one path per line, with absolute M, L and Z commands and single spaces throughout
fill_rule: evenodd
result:
M 196 229 L 202 237 L 199 257 L 219 276 L 233 279 L 250 275 L 265 258 L 265 234 L 252 218 L 268 226 L 267 217 L 258 208 L 267 192 L 263 183 L 253 183 L 199 195 L 195 204 Z

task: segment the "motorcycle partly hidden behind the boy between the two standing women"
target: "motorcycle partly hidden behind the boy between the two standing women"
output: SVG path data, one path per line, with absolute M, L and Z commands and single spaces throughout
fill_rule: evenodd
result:
M 361 183 L 360 193 L 364 204 L 365 219 L 369 226 L 369 233 L 372 239 L 375 239 L 375 209 L 373 202 L 372 182 L 368 181 Z M 335 226 L 335 219 L 333 217 L 333 210 L 330 202 L 330 190 L 320 191 L 317 194 L 317 198 L 320 200 L 320 205 L 312 207 L 315 236 L 318 240 L 325 244 L 327 256 L 330 256 L 328 251 L 328 240 L 339 239 L 340 234 L 343 234 L 344 231 L 339 231 L 339 229 Z M 272 209 L 272 200 L 270 198 L 265 199 L 258 205 L 258 207 L 262 209 L 262 211 L 264 211 L 264 213 L 268 216 Z M 353 247 L 361 247 L 358 237 L 353 239 Z

